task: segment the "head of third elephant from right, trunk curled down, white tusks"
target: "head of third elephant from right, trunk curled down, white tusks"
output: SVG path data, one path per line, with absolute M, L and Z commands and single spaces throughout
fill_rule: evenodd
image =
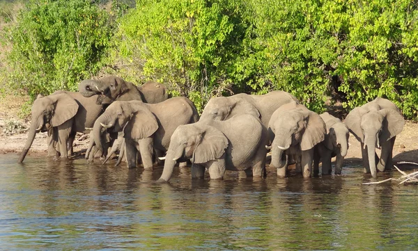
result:
M 301 104 L 289 103 L 277 109 L 270 118 L 269 134 L 272 140 L 272 165 L 286 165 L 284 152 L 291 147 L 301 151 L 312 149 L 325 139 L 326 127 L 322 118 Z

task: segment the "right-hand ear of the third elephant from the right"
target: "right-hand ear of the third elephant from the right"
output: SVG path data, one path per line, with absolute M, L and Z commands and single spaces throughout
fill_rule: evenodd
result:
M 300 148 L 302 151 L 312 149 L 316 144 L 322 142 L 325 139 L 325 133 L 327 133 L 327 127 L 320 115 L 313 111 L 303 111 L 307 114 L 307 126 L 302 136 L 302 142 Z

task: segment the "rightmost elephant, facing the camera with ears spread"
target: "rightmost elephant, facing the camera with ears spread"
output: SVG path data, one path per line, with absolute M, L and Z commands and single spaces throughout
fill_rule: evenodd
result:
M 371 176 L 376 178 L 377 170 L 383 172 L 392 168 L 395 138 L 405 124 L 396 104 L 388 99 L 376 97 L 373 101 L 350 111 L 344 122 L 362 145 L 364 172 L 371 172 Z M 381 147 L 380 159 L 376 158 L 376 147 Z

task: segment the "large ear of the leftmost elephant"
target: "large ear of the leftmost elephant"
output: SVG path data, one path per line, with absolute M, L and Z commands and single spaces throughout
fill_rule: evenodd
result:
M 52 127 L 58 127 L 77 114 L 79 105 L 70 95 L 59 93 L 48 97 L 54 101 L 55 105 L 54 114 L 51 118 Z

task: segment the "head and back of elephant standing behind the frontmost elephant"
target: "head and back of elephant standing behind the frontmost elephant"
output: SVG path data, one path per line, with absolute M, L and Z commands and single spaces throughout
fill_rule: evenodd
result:
M 231 97 L 212 97 L 206 104 L 201 120 L 228 120 L 236 114 L 251 114 L 268 127 L 271 115 L 277 108 L 297 99 L 288 92 L 274 90 L 265 95 L 240 93 Z

